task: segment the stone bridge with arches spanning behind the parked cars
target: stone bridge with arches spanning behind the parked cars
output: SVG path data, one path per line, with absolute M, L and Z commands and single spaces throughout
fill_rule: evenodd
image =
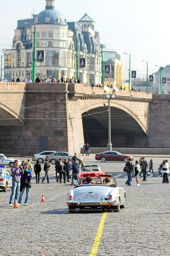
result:
M 158 109 L 167 108 L 169 102 L 169 95 L 165 99 L 165 95 L 116 92 L 111 99 L 113 147 L 166 148 L 168 122 L 163 126 L 157 117 L 163 118 Z M 108 99 L 103 88 L 0 83 L 1 152 L 33 154 L 48 148 L 78 153 L 84 141 L 91 147 L 106 147 L 107 140 Z

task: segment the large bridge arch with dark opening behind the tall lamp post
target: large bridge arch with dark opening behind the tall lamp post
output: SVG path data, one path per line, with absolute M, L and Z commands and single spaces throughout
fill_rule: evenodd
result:
M 105 104 L 105 107 L 104 107 Z M 147 143 L 147 125 L 144 116 L 135 115 L 133 109 L 111 100 L 111 132 L 113 147 L 140 147 Z M 108 142 L 108 100 L 96 100 L 85 105 L 82 110 L 82 122 L 85 142 L 92 147 L 106 147 Z M 146 122 L 147 124 L 147 122 Z

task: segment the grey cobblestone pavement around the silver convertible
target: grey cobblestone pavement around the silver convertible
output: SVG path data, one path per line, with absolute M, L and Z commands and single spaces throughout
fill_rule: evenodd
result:
M 140 178 L 140 187 L 134 186 L 134 179 L 133 186 L 127 187 L 126 180 L 117 179 L 127 191 L 125 209 L 107 213 L 96 255 L 169 256 L 169 184 L 162 184 L 160 177 L 149 177 L 145 182 Z M 65 201 L 70 183 L 59 184 L 55 177 L 50 182 L 36 184 L 33 177 L 28 206 L 24 206 L 24 192 L 19 209 L 8 206 L 11 189 L 0 191 L 0 255 L 90 254 L 103 213 L 69 213 Z M 41 203 L 42 194 L 46 203 Z

